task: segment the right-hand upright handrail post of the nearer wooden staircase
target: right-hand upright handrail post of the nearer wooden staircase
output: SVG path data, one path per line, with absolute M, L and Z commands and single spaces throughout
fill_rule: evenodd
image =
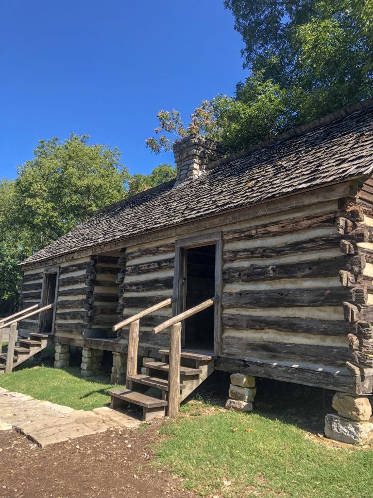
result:
M 171 327 L 168 416 L 176 417 L 180 406 L 180 360 L 182 323 Z

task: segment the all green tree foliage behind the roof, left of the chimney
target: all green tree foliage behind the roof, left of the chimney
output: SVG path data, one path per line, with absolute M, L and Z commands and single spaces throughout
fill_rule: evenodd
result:
M 16 304 L 18 264 L 101 207 L 175 175 L 162 164 L 132 178 L 117 148 L 88 144 L 88 135 L 40 140 L 13 181 L 0 180 L 0 304 Z

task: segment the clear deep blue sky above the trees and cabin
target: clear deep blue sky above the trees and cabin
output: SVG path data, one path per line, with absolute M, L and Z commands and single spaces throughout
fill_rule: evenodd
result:
M 145 147 L 160 109 L 186 122 L 247 76 L 222 0 L 0 0 L 0 177 L 41 138 L 88 133 L 133 173 L 171 152 Z

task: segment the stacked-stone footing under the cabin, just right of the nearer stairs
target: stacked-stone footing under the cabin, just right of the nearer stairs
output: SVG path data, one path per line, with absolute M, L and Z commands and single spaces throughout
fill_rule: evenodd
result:
M 232 373 L 229 399 L 225 408 L 233 411 L 253 411 L 256 392 L 255 377 L 243 373 Z

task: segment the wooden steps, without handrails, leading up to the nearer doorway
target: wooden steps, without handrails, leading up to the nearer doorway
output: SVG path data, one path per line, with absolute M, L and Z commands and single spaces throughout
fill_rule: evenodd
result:
M 141 374 L 127 377 L 126 389 L 111 389 L 111 408 L 120 408 L 128 403 L 143 408 L 143 420 L 168 414 L 170 351 L 161 350 L 162 362 L 144 362 Z M 189 396 L 214 371 L 214 356 L 190 351 L 181 352 L 179 403 Z M 150 388 L 156 393 L 148 394 Z M 159 397 L 157 396 L 159 395 Z

